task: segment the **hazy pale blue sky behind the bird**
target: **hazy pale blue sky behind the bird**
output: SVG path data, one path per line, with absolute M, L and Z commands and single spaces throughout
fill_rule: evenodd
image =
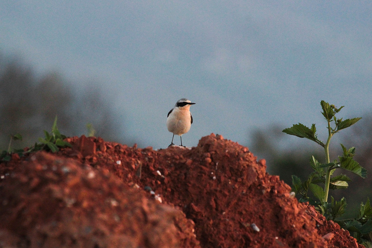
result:
M 345 117 L 372 106 L 371 1 L 5 0 L 0 49 L 103 84 L 127 136 L 154 148 L 170 144 L 183 97 L 196 103 L 187 146 L 212 132 L 249 144 L 272 123 L 323 128 L 321 100 Z

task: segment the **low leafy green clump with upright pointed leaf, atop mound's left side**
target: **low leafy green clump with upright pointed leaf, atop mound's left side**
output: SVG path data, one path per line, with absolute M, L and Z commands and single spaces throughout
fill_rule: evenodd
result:
M 27 152 L 46 150 L 52 152 L 58 152 L 59 148 L 64 148 L 66 146 L 71 147 L 71 144 L 63 139 L 66 138 L 62 135 L 57 128 L 57 116 L 55 116 L 54 123 L 52 126 L 52 132 L 48 133 L 44 130 L 45 138 L 39 138 L 39 144 L 35 143 Z

